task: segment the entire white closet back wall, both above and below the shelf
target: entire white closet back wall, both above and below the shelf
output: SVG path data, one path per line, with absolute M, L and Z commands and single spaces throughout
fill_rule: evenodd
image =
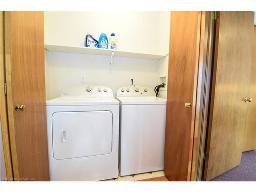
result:
M 111 22 L 112 21 L 112 22 Z M 169 12 L 45 12 L 45 44 L 83 46 L 90 32 L 98 39 L 101 32 L 115 33 L 118 49 L 148 54 L 167 54 Z M 47 99 L 59 97 L 63 87 L 80 83 L 117 89 L 134 79 L 138 86 L 154 88 L 159 74 L 167 72 L 162 61 L 75 53 L 46 52 Z

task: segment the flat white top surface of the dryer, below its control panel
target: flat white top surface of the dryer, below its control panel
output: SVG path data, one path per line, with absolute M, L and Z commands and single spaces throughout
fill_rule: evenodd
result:
M 70 105 L 118 105 L 114 97 L 59 97 L 46 101 L 47 106 Z

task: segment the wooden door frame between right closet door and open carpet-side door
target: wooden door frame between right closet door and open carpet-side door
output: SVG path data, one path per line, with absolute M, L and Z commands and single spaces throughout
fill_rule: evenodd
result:
M 213 66 L 215 19 L 214 11 L 202 11 L 198 62 L 197 103 L 190 181 L 201 181 L 205 158 L 211 72 Z

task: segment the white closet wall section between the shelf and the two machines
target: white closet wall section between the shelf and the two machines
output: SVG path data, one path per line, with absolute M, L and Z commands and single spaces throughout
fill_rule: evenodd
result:
M 114 95 L 119 87 L 129 86 L 131 78 L 138 85 L 156 86 L 158 65 L 153 60 L 116 57 L 110 71 L 109 56 L 49 52 L 48 59 L 48 99 L 78 84 L 82 75 L 86 84 L 110 87 Z

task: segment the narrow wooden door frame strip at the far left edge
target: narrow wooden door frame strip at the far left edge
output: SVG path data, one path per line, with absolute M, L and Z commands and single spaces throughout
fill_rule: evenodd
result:
M 4 148 L 4 159 L 6 168 L 6 179 L 8 181 L 13 180 L 13 168 L 12 168 L 12 157 L 10 147 L 10 133 L 9 133 L 9 122 L 7 113 L 7 97 L 5 94 L 5 83 L 6 83 L 6 57 L 5 57 L 5 12 L 0 11 L 0 118 L 1 118 L 1 129 L 2 129 L 2 140 Z M 1 131 L 1 130 L 0 130 Z

